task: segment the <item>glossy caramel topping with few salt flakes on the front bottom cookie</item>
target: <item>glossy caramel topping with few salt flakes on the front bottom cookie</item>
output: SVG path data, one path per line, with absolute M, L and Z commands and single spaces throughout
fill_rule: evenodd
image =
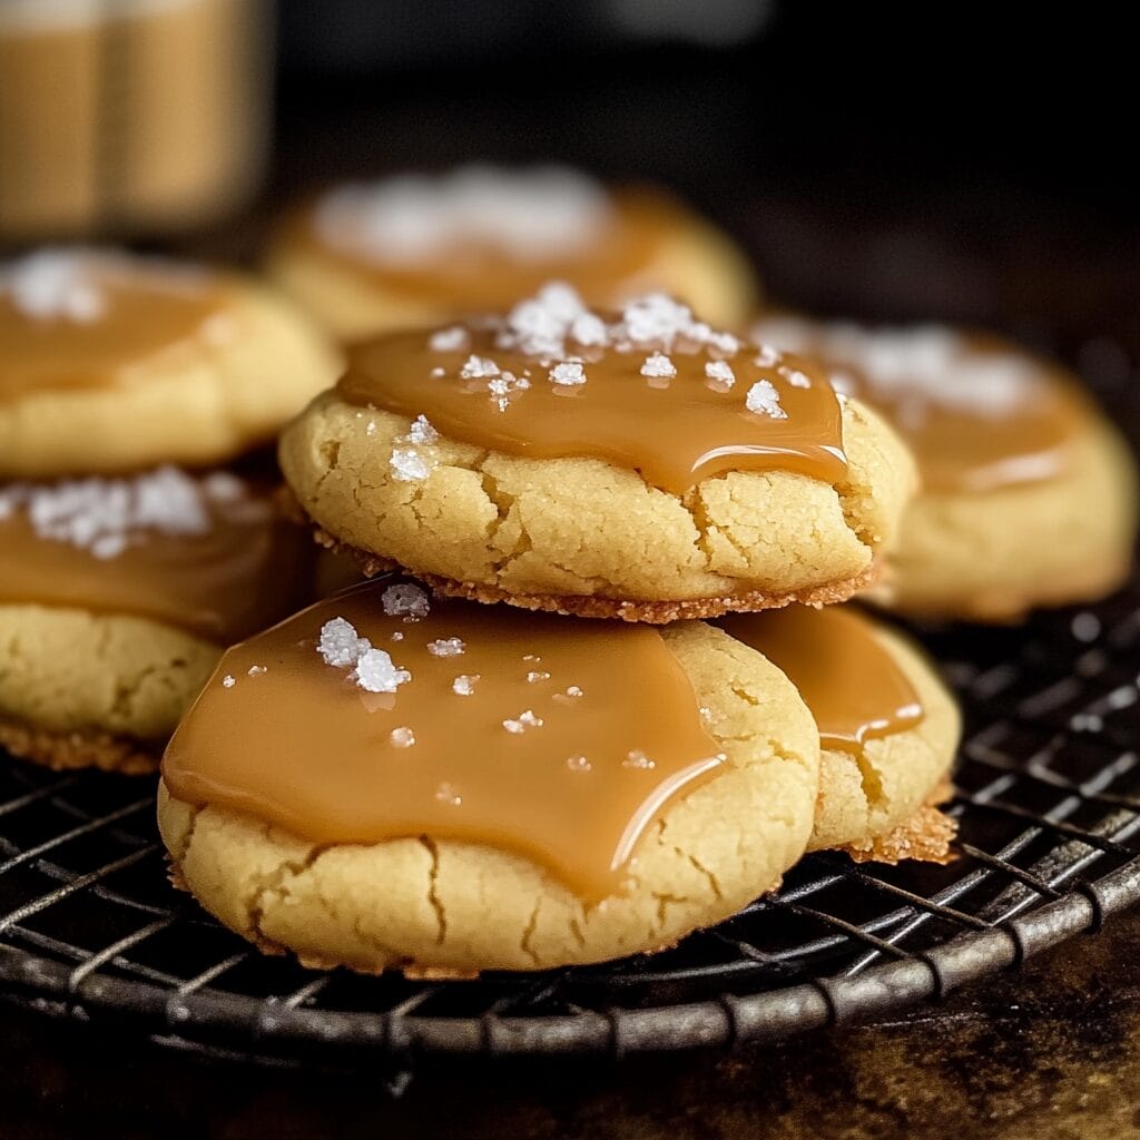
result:
M 579 897 L 724 763 L 645 626 L 353 587 L 231 649 L 163 760 L 172 795 L 314 842 L 514 852 Z M 422 614 L 417 617 L 417 614 Z

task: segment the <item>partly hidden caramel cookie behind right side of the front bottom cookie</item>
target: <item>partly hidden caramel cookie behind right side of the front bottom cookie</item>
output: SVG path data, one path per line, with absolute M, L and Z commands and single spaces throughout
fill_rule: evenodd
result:
M 961 718 L 931 666 L 905 638 L 850 606 L 791 606 L 717 622 L 796 685 L 820 730 L 820 798 L 809 850 L 944 860 Z

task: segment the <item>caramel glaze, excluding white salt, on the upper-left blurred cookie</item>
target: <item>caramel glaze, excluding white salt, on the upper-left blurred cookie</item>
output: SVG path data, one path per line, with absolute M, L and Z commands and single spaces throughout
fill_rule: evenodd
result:
M 42 391 L 131 382 L 131 366 L 187 352 L 228 290 L 204 272 L 98 266 L 89 272 L 106 308 L 93 320 L 36 318 L 0 291 L 0 405 Z

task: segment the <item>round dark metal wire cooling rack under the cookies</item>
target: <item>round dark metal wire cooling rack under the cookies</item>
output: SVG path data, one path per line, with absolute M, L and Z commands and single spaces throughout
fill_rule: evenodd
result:
M 720 926 L 601 966 L 321 972 L 170 886 L 153 781 L 0 754 L 0 992 L 172 1047 L 337 1064 L 774 1040 L 937 999 L 1140 899 L 1140 580 L 1018 628 L 919 635 L 966 717 L 947 866 L 815 854 Z

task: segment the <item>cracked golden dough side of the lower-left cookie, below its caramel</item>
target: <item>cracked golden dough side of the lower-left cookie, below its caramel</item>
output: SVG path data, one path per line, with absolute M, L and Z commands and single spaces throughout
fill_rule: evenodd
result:
M 221 652 L 147 618 L 0 605 L 0 744 L 52 768 L 154 771 Z

